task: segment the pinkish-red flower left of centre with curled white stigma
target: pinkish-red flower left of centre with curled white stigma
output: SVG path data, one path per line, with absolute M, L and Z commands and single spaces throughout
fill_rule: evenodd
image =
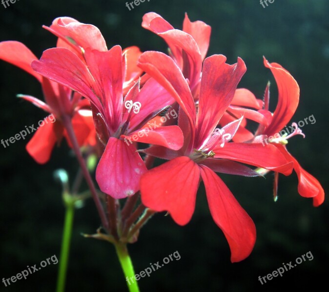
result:
M 178 150 L 183 145 L 177 126 L 156 128 L 144 136 L 144 124 L 173 103 L 173 98 L 154 79 L 140 90 L 137 82 L 123 99 L 123 53 L 120 46 L 99 52 L 87 48 L 85 62 L 64 48 L 43 52 L 33 69 L 88 98 L 92 104 L 97 134 L 105 147 L 97 166 L 101 190 L 116 199 L 133 195 L 146 167 L 134 145 L 123 138 L 139 136 L 139 142 Z M 140 105 L 139 114 L 126 103 Z

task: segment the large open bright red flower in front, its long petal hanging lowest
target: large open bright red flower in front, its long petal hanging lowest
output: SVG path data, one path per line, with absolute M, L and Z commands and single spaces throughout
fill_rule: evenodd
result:
M 226 143 L 234 136 L 241 120 L 214 132 L 246 72 L 245 63 L 240 58 L 234 65 L 225 62 L 223 55 L 213 55 L 204 61 L 196 113 L 192 93 L 177 64 L 159 52 L 145 52 L 140 57 L 139 66 L 164 86 L 180 105 L 178 125 L 185 139 L 184 146 L 178 151 L 159 146 L 145 150 L 153 156 L 171 160 L 142 176 L 141 195 L 147 207 L 168 211 L 175 222 L 185 225 L 194 212 L 201 178 L 212 218 L 226 236 L 231 261 L 237 262 L 252 251 L 256 239 L 255 225 L 214 171 L 257 176 L 247 166 L 237 163 L 242 162 L 289 174 L 292 163 L 272 145 Z

